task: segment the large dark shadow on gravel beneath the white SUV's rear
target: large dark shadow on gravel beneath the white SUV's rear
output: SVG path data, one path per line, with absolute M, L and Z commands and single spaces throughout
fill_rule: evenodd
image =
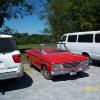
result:
M 12 79 L 0 81 L 0 93 L 2 93 L 2 95 L 5 95 L 5 92 L 7 91 L 27 88 L 30 87 L 32 83 L 33 83 L 32 78 L 27 73 L 24 73 L 24 76 L 16 81 Z

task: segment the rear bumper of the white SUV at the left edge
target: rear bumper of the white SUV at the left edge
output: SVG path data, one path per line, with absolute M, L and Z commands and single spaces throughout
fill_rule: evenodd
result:
M 21 77 L 23 76 L 23 72 L 24 72 L 24 69 L 22 66 L 19 66 L 17 68 L 0 70 L 0 80 Z

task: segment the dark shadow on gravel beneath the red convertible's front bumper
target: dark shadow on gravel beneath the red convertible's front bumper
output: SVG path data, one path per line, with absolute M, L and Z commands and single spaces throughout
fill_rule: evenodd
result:
M 76 80 L 76 79 L 79 79 L 79 78 L 84 78 L 84 77 L 88 77 L 89 74 L 88 73 L 85 73 L 85 72 L 80 72 L 80 73 L 77 73 L 76 75 L 69 75 L 69 74 L 66 74 L 66 75 L 60 75 L 60 76 L 55 76 L 52 81 L 54 82 L 58 82 L 58 81 L 67 81 L 67 80 Z

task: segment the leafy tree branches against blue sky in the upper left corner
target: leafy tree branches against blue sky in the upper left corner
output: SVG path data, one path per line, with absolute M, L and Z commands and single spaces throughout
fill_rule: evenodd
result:
M 0 27 L 5 19 L 19 18 L 33 13 L 33 3 L 30 0 L 0 0 Z

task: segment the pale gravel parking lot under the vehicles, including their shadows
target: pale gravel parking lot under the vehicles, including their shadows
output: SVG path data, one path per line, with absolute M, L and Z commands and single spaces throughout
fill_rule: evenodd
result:
M 100 100 L 100 65 L 74 76 L 46 80 L 24 64 L 25 74 L 15 83 L 0 82 L 0 100 Z

